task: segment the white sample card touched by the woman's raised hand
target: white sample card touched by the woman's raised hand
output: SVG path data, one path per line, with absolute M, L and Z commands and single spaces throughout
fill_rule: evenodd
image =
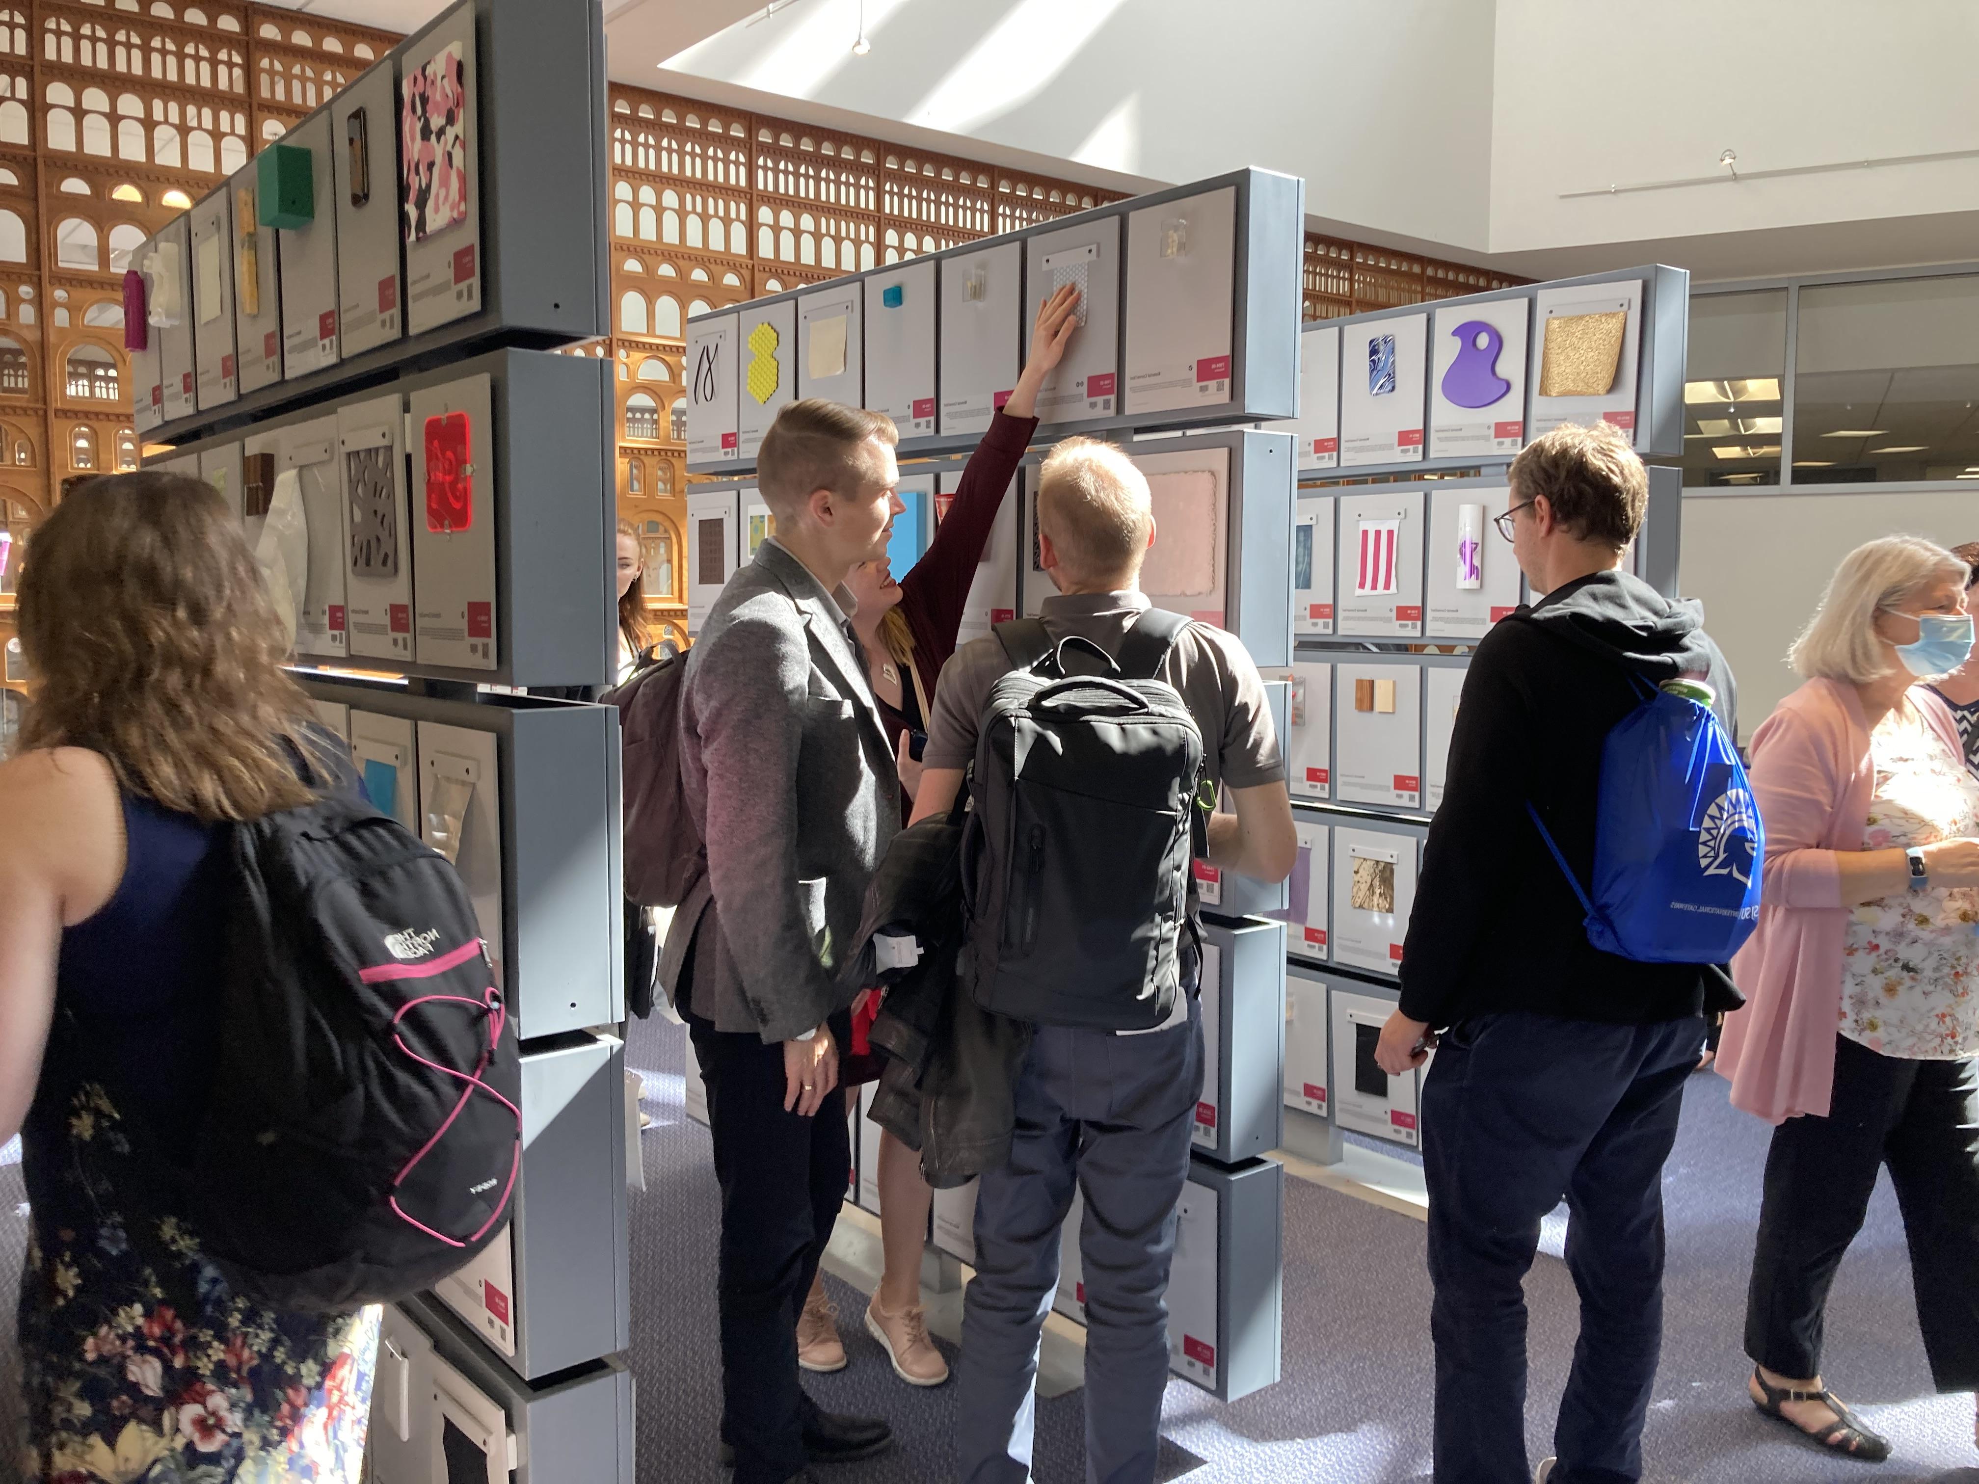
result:
M 1023 338 L 1029 352 L 1037 311 L 1065 285 L 1079 289 L 1079 328 L 1065 360 L 1037 392 L 1037 419 L 1059 427 L 1120 410 L 1120 218 L 1025 241 Z

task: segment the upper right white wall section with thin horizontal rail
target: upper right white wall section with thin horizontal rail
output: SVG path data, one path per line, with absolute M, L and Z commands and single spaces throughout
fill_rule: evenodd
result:
M 1496 0 L 1490 249 L 1979 210 L 1979 158 L 1561 200 L 1611 184 L 1979 150 L 1971 0 Z

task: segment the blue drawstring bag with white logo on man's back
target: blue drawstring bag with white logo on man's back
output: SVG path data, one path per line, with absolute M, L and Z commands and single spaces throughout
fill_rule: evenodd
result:
M 1587 908 L 1587 940 L 1639 964 L 1724 964 L 1759 926 L 1765 829 L 1710 706 L 1650 689 L 1601 746 L 1593 890 L 1540 811 L 1546 849 Z

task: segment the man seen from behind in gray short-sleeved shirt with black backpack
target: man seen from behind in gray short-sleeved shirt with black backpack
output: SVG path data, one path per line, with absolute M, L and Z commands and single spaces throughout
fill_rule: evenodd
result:
M 1069 439 L 1039 471 L 1041 619 L 956 651 L 914 817 L 974 805 L 962 993 L 1033 1025 L 1009 1161 L 982 1175 L 964 1296 L 968 1484 L 1029 1478 L 1037 1345 L 1059 1229 L 1084 1195 L 1086 1476 L 1154 1478 L 1176 1203 L 1203 1084 L 1189 859 L 1282 881 L 1298 841 L 1265 687 L 1243 645 L 1140 594 L 1148 481 Z M 1199 801 L 1227 786 L 1235 815 Z M 1197 831 L 1207 827 L 1207 841 Z

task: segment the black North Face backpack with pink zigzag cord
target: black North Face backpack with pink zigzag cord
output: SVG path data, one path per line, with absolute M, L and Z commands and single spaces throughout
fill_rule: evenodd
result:
M 184 1215 L 234 1290 L 348 1312 L 507 1225 L 522 1065 L 443 855 L 350 793 L 228 841 L 212 1102 Z

